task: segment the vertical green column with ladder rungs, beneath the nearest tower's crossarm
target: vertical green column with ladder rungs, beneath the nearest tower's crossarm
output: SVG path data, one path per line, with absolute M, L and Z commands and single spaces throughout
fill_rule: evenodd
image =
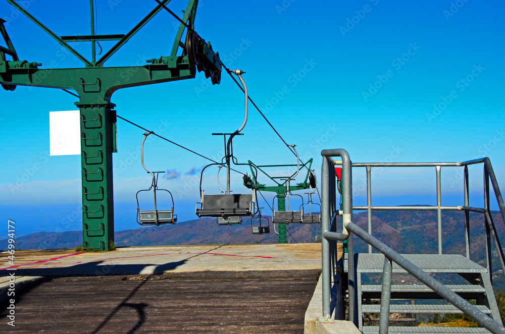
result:
M 108 250 L 114 243 L 112 153 L 116 112 L 112 103 L 76 103 L 81 118 L 82 241 L 85 249 Z M 93 232 L 90 232 L 93 231 Z

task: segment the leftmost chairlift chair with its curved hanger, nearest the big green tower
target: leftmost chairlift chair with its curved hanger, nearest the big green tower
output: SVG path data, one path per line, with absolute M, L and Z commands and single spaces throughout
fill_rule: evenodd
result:
M 172 193 L 166 189 L 158 188 L 158 176 L 160 173 L 165 172 L 151 172 L 144 165 L 144 142 L 148 135 L 154 132 L 146 132 L 144 133 L 144 139 L 142 140 L 142 145 L 140 146 L 140 160 L 142 162 L 142 167 L 147 171 L 151 176 L 153 176 L 153 181 L 151 186 L 148 189 L 142 189 L 137 191 L 136 199 L 137 199 L 137 223 L 141 226 L 150 226 L 150 225 L 166 225 L 166 224 L 175 224 L 177 222 L 177 215 L 174 215 L 174 198 Z M 151 191 L 153 190 L 154 195 L 154 210 L 140 210 L 140 205 L 138 202 L 138 194 L 143 191 Z M 158 210 L 156 192 L 157 191 L 166 191 L 170 194 L 170 199 L 172 201 L 172 207 L 170 210 Z

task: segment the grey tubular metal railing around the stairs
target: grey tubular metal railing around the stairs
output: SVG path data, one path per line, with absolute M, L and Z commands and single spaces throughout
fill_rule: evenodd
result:
M 421 270 L 411 261 L 407 260 L 405 257 L 401 256 L 397 252 L 393 251 L 387 245 L 376 239 L 371 235 L 371 210 L 437 210 L 437 220 L 438 220 L 438 253 L 442 254 L 442 243 L 441 243 L 441 211 L 442 210 L 464 210 L 465 211 L 465 255 L 467 258 L 470 257 L 470 239 L 469 239 L 469 212 L 481 212 L 485 214 L 486 221 L 486 239 L 487 239 L 487 252 L 486 252 L 486 262 L 489 269 L 490 279 L 492 280 L 492 270 L 491 270 L 491 241 L 494 240 L 494 244 L 497 252 L 499 252 L 500 262 L 503 270 L 503 252 L 499 239 L 496 234 L 496 229 L 492 216 L 490 213 L 489 206 L 489 180 L 493 185 L 494 193 L 498 201 L 501 215 L 505 221 L 505 205 L 503 204 L 503 199 L 496 182 L 496 177 L 494 175 L 491 162 L 489 158 L 482 158 L 477 160 L 470 160 L 466 162 L 456 162 L 456 163 L 355 163 L 352 164 L 349 158 L 349 154 L 343 149 L 332 149 L 321 151 L 323 156 L 323 164 L 321 169 L 321 182 L 322 182 L 322 200 L 321 200 L 321 229 L 322 229 L 322 283 L 323 283 L 323 319 L 329 320 L 331 318 L 330 312 L 330 302 L 331 302 L 331 280 L 334 273 L 334 260 L 336 253 L 335 247 L 332 247 L 332 243 L 335 241 L 347 240 L 348 247 L 348 295 L 349 295 L 349 319 L 356 323 L 357 314 L 356 309 L 356 294 L 355 294 L 355 259 L 354 251 L 352 245 L 352 238 L 349 238 L 349 232 L 356 234 L 369 246 L 369 252 L 371 252 L 371 247 L 376 248 L 379 252 L 384 254 L 384 268 L 383 268 L 383 278 L 382 278 L 382 294 L 381 294 L 381 315 L 379 323 L 379 332 L 387 333 L 388 323 L 389 323 L 389 301 L 391 293 L 391 273 L 392 273 L 392 262 L 397 263 L 400 267 L 405 269 L 407 272 L 416 277 L 419 281 L 423 282 L 425 285 L 430 287 L 433 291 L 438 293 L 441 297 L 446 299 L 449 303 L 456 306 L 463 313 L 467 314 L 469 317 L 474 319 L 481 326 L 487 328 L 493 333 L 505 333 L 505 327 L 501 324 L 487 316 L 485 313 L 481 312 L 474 305 L 470 304 L 456 293 L 452 292 L 446 286 L 435 280 L 432 276 L 427 274 L 425 271 Z M 341 157 L 341 160 L 333 160 L 332 157 Z M 484 208 L 475 208 L 469 206 L 469 186 L 468 186 L 468 166 L 476 163 L 484 163 Z M 342 210 L 340 211 L 336 207 L 336 194 L 335 194 L 335 165 L 342 165 L 341 173 L 341 194 L 342 194 Z M 367 168 L 367 206 L 352 206 L 352 166 L 365 166 Z M 401 206 L 401 207 L 390 207 L 390 206 L 372 206 L 371 205 L 371 168 L 374 166 L 434 166 L 436 168 L 437 176 L 437 206 Z M 440 174 L 442 166 L 463 166 L 464 167 L 464 206 L 442 206 L 441 205 L 441 182 Z M 368 211 L 368 229 L 367 233 L 357 225 L 352 223 L 352 210 L 353 209 L 366 209 Z M 337 216 L 342 215 L 342 232 L 336 232 L 336 222 Z

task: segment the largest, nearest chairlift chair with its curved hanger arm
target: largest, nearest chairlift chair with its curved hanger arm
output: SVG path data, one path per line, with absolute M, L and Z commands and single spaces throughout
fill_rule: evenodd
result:
M 254 216 L 255 213 L 255 201 L 256 201 L 256 190 L 252 194 L 232 194 L 230 191 L 230 164 L 231 161 L 233 163 L 238 164 L 233 159 L 233 150 L 232 150 L 232 139 L 236 135 L 241 135 L 240 131 L 245 127 L 247 122 L 247 87 L 241 77 L 241 74 L 244 73 L 240 70 L 230 71 L 235 73 L 242 85 L 244 86 L 245 93 L 245 117 L 242 126 L 233 133 L 220 133 L 213 135 L 224 135 L 225 138 L 225 151 L 226 151 L 226 191 L 221 189 L 219 186 L 219 171 L 224 167 L 223 163 L 211 163 L 201 171 L 200 175 L 200 202 L 196 203 L 195 213 L 198 217 L 216 217 L 218 225 L 234 225 L 241 224 L 243 216 Z M 226 135 L 229 135 L 228 141 L 226 142 Z M 219 165 L 218 171 L 218 187 L 224 194 L 213 194 L 208 195 L 204 194 L 204 191 L 201 189 L 201 180 L 204 175 L 204 171 L 211 165 Z M 198 204 L 200 207 L 198 208 Z

